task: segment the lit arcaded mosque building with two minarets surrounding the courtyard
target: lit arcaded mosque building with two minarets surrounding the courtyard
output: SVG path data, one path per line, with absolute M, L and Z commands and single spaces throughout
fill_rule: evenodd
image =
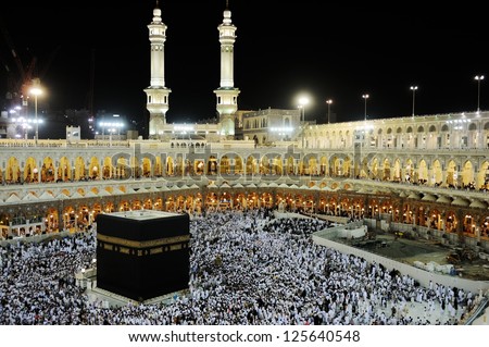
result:
M 281 205 L 489 252 L 489 112 L 318 125 L 300 110 L 240 111 L 226 7 L 218 123 L 170 124 L 158 3 L 152 15 L 149 138 L 0 139 L 1 238 L 76 232 L 113 211 Z

